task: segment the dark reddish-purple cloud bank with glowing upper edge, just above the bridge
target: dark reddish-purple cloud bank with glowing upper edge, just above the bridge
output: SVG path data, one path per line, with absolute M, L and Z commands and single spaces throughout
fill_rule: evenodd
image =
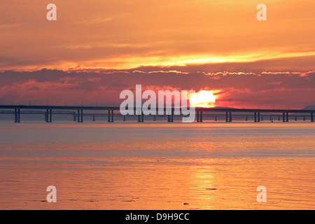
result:
M 314 71 L 247 73 L 139 67 L 124 71 L 6 71 L 0 73 L 0 104 L 119 105 L 120 92 L 134 90 L 211 90 L 216 106 L 302 109 L 315 104 Z M 139 72 L 141 71 L 141 72 Z M 300 76 L 301 73 L 307 76 Z

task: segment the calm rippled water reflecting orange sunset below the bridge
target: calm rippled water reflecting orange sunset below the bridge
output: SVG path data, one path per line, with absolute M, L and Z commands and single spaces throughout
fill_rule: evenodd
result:
M 1 124 L 0 209 L 315 209 L 314 137 L 314 123 Z

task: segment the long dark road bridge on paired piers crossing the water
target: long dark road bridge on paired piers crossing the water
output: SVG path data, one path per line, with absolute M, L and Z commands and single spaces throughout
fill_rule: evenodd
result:
M 135 109 L 136 110 L 136 109 Z M 83 113 L 83 111 L 107 111 L 107 113 Z M 116 113 L 114 113 L 114 111 Z M 165 111 L 167 109 L 165 108 Z M 168 118 L 168 122 L 174 122 L 174 117 L 183 117 L 175 116 L 174 108 L 172 108 L 172 113 L 165 115 Z M 197 122 L 201 123 L 204 121 L 204 118 L 209 117 L 207 113 L 214 113 L 211 116 L 218 120 L 218 117 L 225 116 L 226 122 L 232 122 L 233 116 L 232 113 L 237 113 L 238 116 L 248 118 L 253 118 L 255 122 L 260 122 L 263 120 L 262 114 L 264 116 L 270 116 L 272 118 L 278 118 L 283 122 L 288 122 L 289 117 L 297 118 L 302 117 L 303 120 L 309 119 L 311 122 L 315 121 L 315 110 L 290 110 L 290 109 L 230 109 L 230 108 L 195 108 Z M 218 114 L 221 113 L 221 114 Z M 223 113 L 223 114 L 222 114 Z M 245 114 L 246 113 L 246 114 Z M 267 115 L 266 115 L 267 113 Z M 55 115 L 71 115 L 73 116 L 73 121 L 78 123 L 83 123 L 84 117 L 92 117 L 95 121 L 95 117 L 106 116 L 108 117 L 108 122 L 113 123 L 114 115 L 122 116 L 120 114 L 120 107 L 118 106 L 23 106 L 23 105 L 0 105 L 0 114 L 14 114 L 15 123 L 20 123 L 21 114 L 38 114 L 45 116 L 46 123 L 52 123 L 52 114 Z M 156 120 L 157 116 L 153 116 Z M 125 120 L 126 116 L 123 116 Z M 282 119 L 281 119 L 282 118 Z M 144 113 L 138 116 L 139 123 L 144 122 Z

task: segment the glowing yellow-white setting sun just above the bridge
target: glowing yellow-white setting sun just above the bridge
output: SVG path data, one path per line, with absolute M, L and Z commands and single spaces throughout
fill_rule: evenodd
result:
M 190 106 L 195 107 L 214 107 L 216 104 L 216 97 L 212 92 L 207 90 L 200 90 L 190 96 Z

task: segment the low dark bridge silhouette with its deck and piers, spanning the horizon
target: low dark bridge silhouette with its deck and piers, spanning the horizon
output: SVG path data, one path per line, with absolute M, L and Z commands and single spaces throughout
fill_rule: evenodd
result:
M 15 123 L 20 123 L 20 115 L 25 113 L 31 113 L 31 114 L 44 114 L 45 115 L 45 121 L 47 123 L 52 123 L 52 114 L 72 114 L 73 115 L 73 121 L 78 120 L 78 123 L 83 123 L 83 111 L 108 111 L 107 114 L 109 117 L 109 123 L 113 123 L 113 116 L 114 111 L 120 112 L 120 107 L 118 106 L 23 106 L 23 105 L 0 105 L 0 113 L 10 113 L 10 111 L 4 111 L 1 109 L 13 109 L 12 113 L 15 114 Z M 23 111 L 21 111 L 23 110 Z M 29 110 L 29 111 L 26 111 Z M 30 111 L 30 110 L 36 110 L 36 111 Z M 38 111 L 38 110 L 45 110 L 44 111 Z M 52 112 L 52 110 L 54 110 Z M 68 111 L 66 111 L 68 110 Z M 69 110 L 77 111 L 71 112 Z M 157 113 L 160 115 L 159 108 L 156 109 Z M 144 111 L 142 109 L 135 108 L 134 111 L 139 111 L 139 122 L 144 122 Z M 142 112 L 141 112 L 142 111 Z M 179 108 L 164 108 L 164 112 L 168 111 L 169 113 L 163 113 L 164 116 L 168 116 L 168 122 L 174 121 L 174 112 L 181 111 Z M 171 113 L 172 111 L 172 113 Z M 203 122 L 203 117 L 205 116 L 205 112 L 212 112 L 212 113 L 225 113 L 226 122 L 232 122 L 232 112 L 233 113 L 253 113 L 254 114 L 254 120 L 255 122 L 260 122 L 262 120 L 262 113 L 282 113 L 283 122 L 289 121 L 289 113 L 295 114 L 295 120 L 297 120 L 296 115 L 297 114 L 309 114 L 311 117 L 311 122 L 315 121 L 315 110 L 290 110 L 290 109 L 231 109 L 231 108 L 195 108 L 196 115 L 197 115 L 197 122 Z M 180 113 L 178 113 L 180 114 Z M 116 115 L 120 115 L 120 113 L 116 113 Z M 85 116 L 87 116 L 87 113 L 85 113 Z M 96 114 L 89 114 L 88 116 L 93 116 L 93 120 L 95 120 Z M 99 113 L 98 113 L 98 116 Z M 193 114 L 194 116 L 194 114 Z M 248 118 L 246 117 L 246 120 Z M 279 116 L 280 119 L 280 116 Z M 124 118 L 125 120 L 125 118 Z M 270 118 L 270 120 L 272 120 Z M 305 118 L 304 118 L 305 120 Z

